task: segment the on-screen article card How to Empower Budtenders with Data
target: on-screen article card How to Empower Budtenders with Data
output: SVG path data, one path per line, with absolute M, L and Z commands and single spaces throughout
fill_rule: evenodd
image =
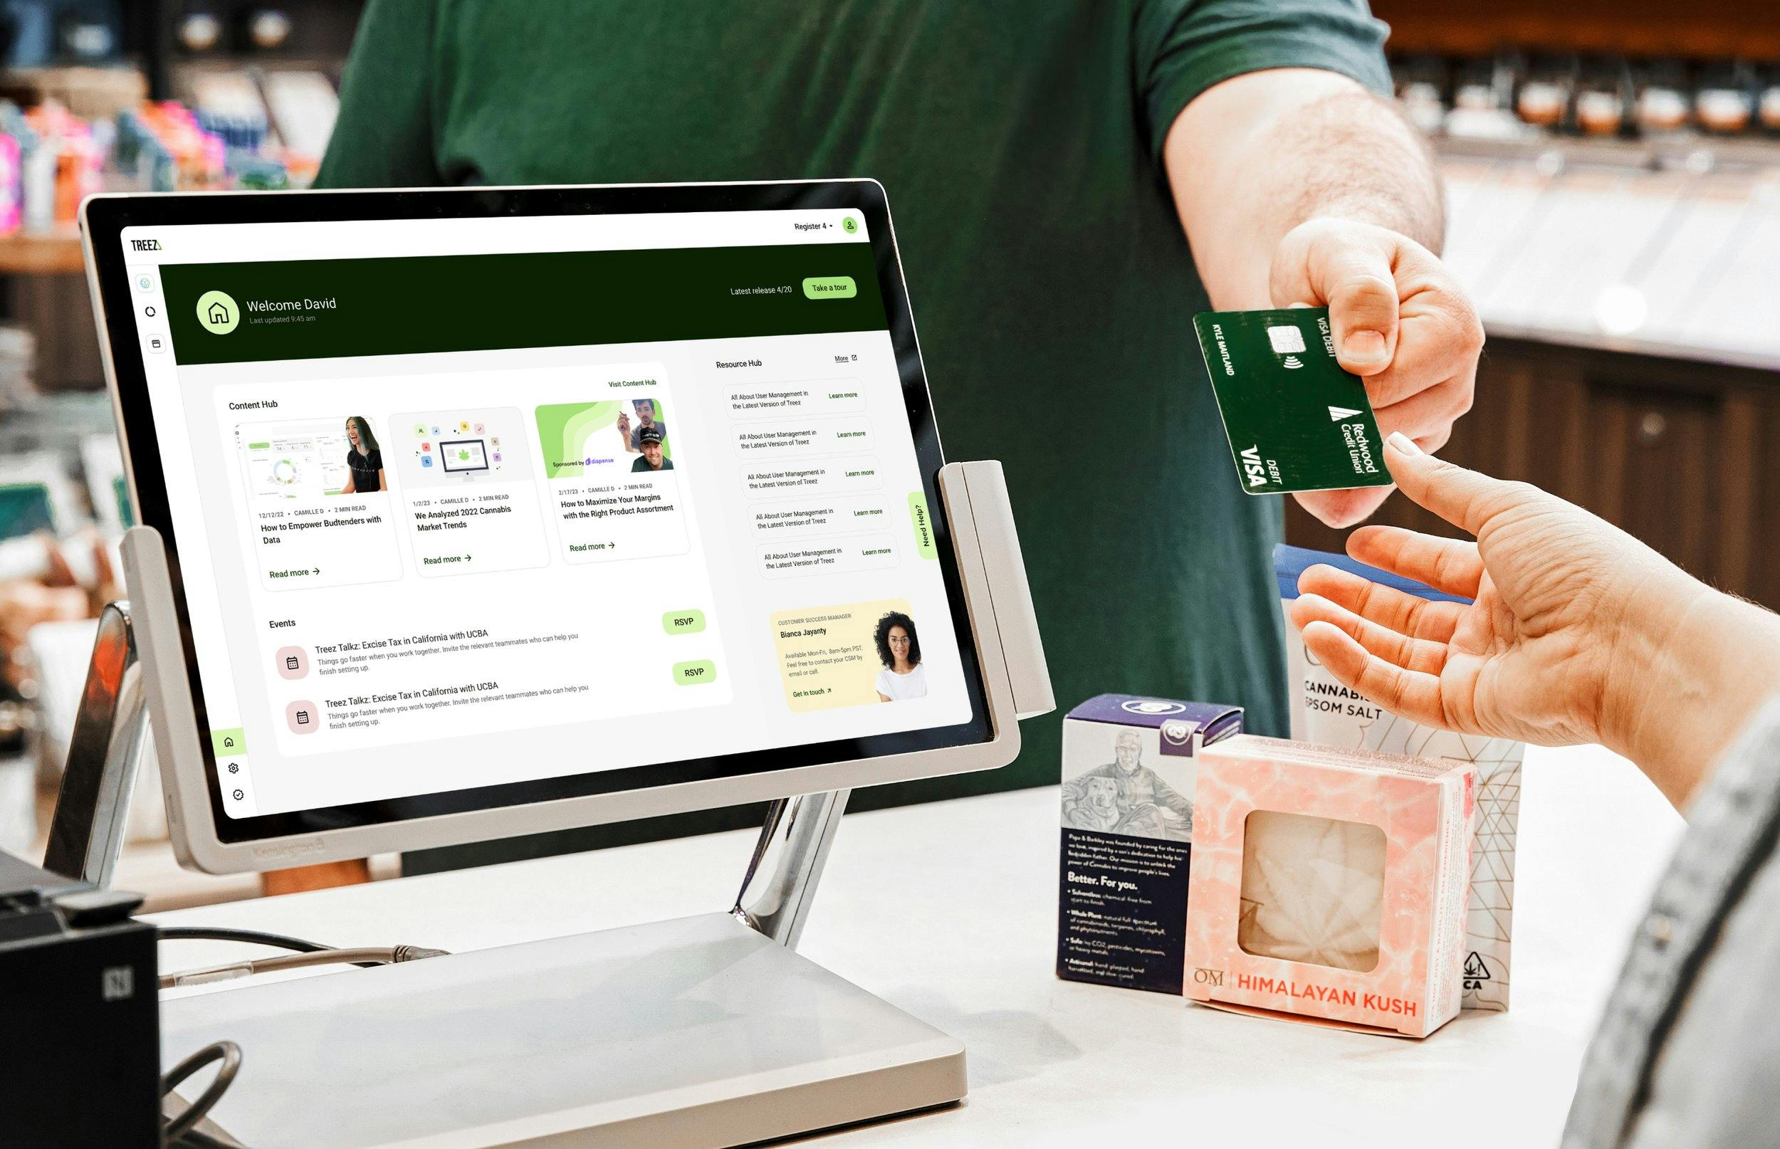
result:
M 235 457 L 255 566 L 269 591 L 402 576 L 374 420 L 342 413 L 237 423 Z

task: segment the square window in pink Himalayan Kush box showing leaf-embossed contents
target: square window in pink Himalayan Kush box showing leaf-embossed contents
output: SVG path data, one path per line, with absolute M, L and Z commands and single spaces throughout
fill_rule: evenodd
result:
M 1385 918 L 1385 831 L 1274 809 L 1242 824 L 1244 953 L 1367 973 Z

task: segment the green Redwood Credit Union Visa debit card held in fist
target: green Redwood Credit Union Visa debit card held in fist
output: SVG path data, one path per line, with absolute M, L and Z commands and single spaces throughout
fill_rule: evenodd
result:
M 1365 384 L 1335 361 L 1328 308 L 1203 311 L 1193 325 L 1244 491 L 1390 486 Z

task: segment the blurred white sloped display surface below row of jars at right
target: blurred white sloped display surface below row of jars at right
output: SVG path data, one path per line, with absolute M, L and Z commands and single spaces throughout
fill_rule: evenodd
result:
M 1447 265 L 1495 336 L 1780 368 L 1775 151 L 1700 171 L 1445 155 Z

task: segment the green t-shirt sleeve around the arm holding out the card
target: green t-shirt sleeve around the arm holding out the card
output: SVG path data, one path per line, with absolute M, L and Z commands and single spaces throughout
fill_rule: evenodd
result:
M 1390 28 L 1365 0 L 1137 0 L 1132 32 L 1153 157 L 1194 96 L 1250 71 L 1321 68 L 1390 92 Z

